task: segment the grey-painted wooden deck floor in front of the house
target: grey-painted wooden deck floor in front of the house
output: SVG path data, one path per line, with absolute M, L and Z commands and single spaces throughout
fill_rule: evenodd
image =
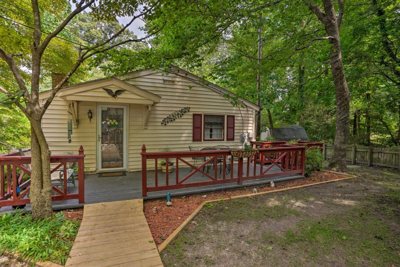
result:
M 244 174 L 247 171 L 247 164 L 244 164 Z M 257 168 L 260 168 L 260 165 L 257 165 Z M 250 173 L 253 171 L 253 165 L 250 165 Z M 210 170 L 212 172 L 212 170 Z M 218 169 L 219 172 L 219 169 Z M 269 173 L 280 173 L 281 170 L 274 166 Z M 180 178 L 186 176 L 190 173 L 190 168 L 179 168 L 179 176 Z M 234 164 L 234 174 L 237 173 L 237 164 Z M 171 177 L 174 177 L 174 173 L 170 174 Z M 92 203 L 101 203 L 101 202 L 110 202 L 110 201 L 119 201 L 119 200 L 128 200 L 135 198 L 142 198 L 142 172 L 126 172 L 126 176 L 115 176 L 115 177 L 98 177 L 98 174 L 86 174 L 85 175 L 85 204 Z M 148 177 L 148 185 L 154 185 L 154 170 L 147 171 Z M 227 174 L 229 177 L 229 174 Z M 254 180 L 246 180 L 243 181 L 244 186 L 253 186 L 258 184 L 266 184 L 270 181 L 279 182 L 285 180 L 292 180 L 302 178 L 303 176 L 297 174 L 289 174 L 276 176 L 271 178 L 262 178 L 262 179 L 254 179 Z M 202 176 L 200 173 L 194 174 L 190 179 L 186 182 L 200 182 L 206 181 L 208 178 L 206 176 Z M 158 170 L 158 184 L 162 185 L 165 183 L 165 174 Z M 240 187 L 236 182 L 226 183 L 226 184 L 217 184 L 210 186 L 200 186 L 196 188 L 182 188 L 170 190 L 168 192 L 171 193 L 171 196 L 179 196 L 185 194 L 198 194 L 205 193 L 209 191 L 217 191 L 224 189 L 231 189 Z M 69 190 L 71 193 L 78 192 L 78 181 L 76 180 L 76 186 L 70 186 Z M 148 192 L 148 196 L 146 199 L 151 198 L 165 198 L 167 192 L 166 191 L 158 191 L 158 192 Z M 62 210 L 67 208 L 78 208 L 83 207 L 83 204 L 78 204 L 77 199 L 72 200 L 63 200 L 63 201 L 54 201 L 53 203 L 54 210 Z M 25 211 L 30 211 L 30 204 L 26 205 Z M 0 209 L 0 214 L 2 212 L 12 212 L 12 207 L 2 207 Z

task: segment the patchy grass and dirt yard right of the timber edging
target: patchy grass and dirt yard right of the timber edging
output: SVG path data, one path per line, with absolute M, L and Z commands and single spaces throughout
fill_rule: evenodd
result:
M 161 253 L 166 266 L 400 266 L 400 173 L 214 202 Z

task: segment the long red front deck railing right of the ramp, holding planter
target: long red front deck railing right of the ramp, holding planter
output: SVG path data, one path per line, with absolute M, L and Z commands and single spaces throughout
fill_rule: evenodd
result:
M 301 174 L 304 175 L 305 165 L 305 151 L 306 147 L 279 147 L 279 148 L 258 148 L 259 154 L 261 154 L 261 164 L 257 162 L 250 162 L 250 158 L 247 158 L 244 163 L 243 158 L 238 159 L 236 172 L 234 173 L 234 160 L 230 155 L 229 150 L 203 150 L 203 151 L 179 151 L 179 152 L 146 152 L 146 146 L 142 146 L 142 195 L 147 196 L 147 192 L 172 190 L 178 188 L 208 186 L 213 184 L 224 184 L 230 182 L 237 182 L 242 184 L 243 180 L 260 179 L 266 177 L 282 176 L 288 174 Z M 199 166 L 194 166 L 190 161 L 192 158 L 206 157 L 205 162 L 202 162 Z M 230 161 L 226 160 L 230 158 Z M 148 186 L 148 173 L 147 166 L 148 160 L 154 160 L 154 179 L 151 180 L 154 185 Z M 168 164 L 166 164 L 166 173 L 159 172 L 158 160 L 165 160 L 166 162 L 171 161 L 175 163 L 175 173 L 168 173 Z M 264 166 L 264 160 L 268 160 L 271 165 Z M 218 162 L 221 162 L 218 164 Z M 226 174 L 226 164 L 230 164 L 230 173 Z M 179 163 L 183 163 L 184 167 L 192 168 L 192 171 L 187 175 L 179 176 L 180 169 Z M 203 167 L 207 164 L 214 163 L 217 167 L 214 168 L 213 173 L 208 174 Z M 247 165 L 246 172 L 244 173 L 244 164 Z M 222 177 L 218 177 L 218 165 L 222 168 Z M 272 170 L 276 166 L 278 170 Z M 250 172 L 250 167 L 252 170 Z M 188 172 L 188 168 L 185 168 Z M 183 173 L 183 172 L 182 172 Z M 201 182 L 188 182 L 188 179 L 194 174 L 200 173 L 207 180 Z M 160 176 L 162 174 L 162 176 Z M 159 177 L 160 176 L 160 177 Z M 172 176 L 172 177 L 171 177 Z M 165 179 L 161 181 L 161 179 Z M 172 179 L 170 179 L 172 178 Z M 160 185 L 162 184 L 162 185 Z

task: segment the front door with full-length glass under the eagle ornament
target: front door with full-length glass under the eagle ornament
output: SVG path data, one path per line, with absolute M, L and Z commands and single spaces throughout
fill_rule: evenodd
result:
M 98 106 L 98 169 L 126 169 L 126 106 Z

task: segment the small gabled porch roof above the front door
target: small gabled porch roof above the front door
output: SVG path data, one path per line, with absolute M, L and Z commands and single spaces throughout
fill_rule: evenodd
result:
M 97 79 L 97 80 L 87 81 L 87 82 L 83 82 L 83 83 L 76 83 L 74 85 L 68 85 L 68 86 L 60 89 L 60 91 L 57 92 L 56 96 L 61 97 L 63 99 L 75 100 L 75 99 L 72 99 L 73 95 L 84 95 L 85 92 L 88 92 L 91 90 L 96 90 L 96 89 L 102 89 L 103 87 L 114 87 L 114 88 L 124 89 L 125 91 L 134 95 L 134 97 L 131 97 L 131 99 L 137 99 L 138 101 L 140 100 L 143 103 L 150 103 L 150 102 L 160 103 L 160 99 L 161 99 L 160 96 L 158 96 L 154 93 L 151 93 L 149 91 L 141 89 L 141 88 L 137 87 L 136 85 L 132 85 L 130 83 L 127 83 L 125 81 L 117 79 L 116 77 L 103 78 L 103 79 Z M 51 93 L 51 90 L 41 92 L 40 99 L 46 99 L 50 93 Z M 104 91 L 104 95 L 106 95 L 105 91 Z M 102 98 L 104 98 L 104 97 L 101 97 L 101 96 L 93 97 L 92 101 L 99 101 Z M 118 99 L 120 99 L 120 98 L 118 98 Z M 112 100 L 112 99 L 108 99 L 108 100 Z

